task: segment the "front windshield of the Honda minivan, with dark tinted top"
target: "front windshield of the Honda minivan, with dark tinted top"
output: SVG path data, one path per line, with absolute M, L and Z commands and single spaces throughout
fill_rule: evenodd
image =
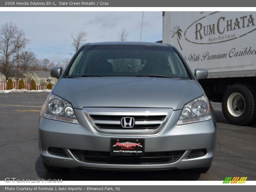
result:
M 172 47 L 148 45 L 85 46 L 66 77 L 154 76 L 189 79 Z

